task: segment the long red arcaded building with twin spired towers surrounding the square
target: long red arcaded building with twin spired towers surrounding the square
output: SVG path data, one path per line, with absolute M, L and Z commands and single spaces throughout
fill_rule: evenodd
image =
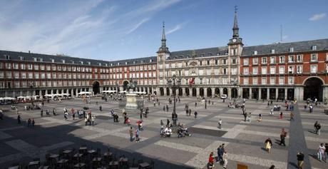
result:
M 125 91 L 133 80 L 157 96 L 328 98 L 328 39 L 244 46 L 235 12 L 226 46 L 170 52 L 164 26 L 161 42 L 157 56 L 121 61 L 0 51 L 0 97 Z M 167 85 L 173 75 L 177 91 Z

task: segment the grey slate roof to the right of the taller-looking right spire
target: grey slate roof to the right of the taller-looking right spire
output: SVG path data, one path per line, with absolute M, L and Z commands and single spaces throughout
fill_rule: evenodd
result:
M 290 53 L 289 48 L 294 48 L 294 52 L 312 51 L 312 46 L 317 46 L 316 51 L 328 50 L 328 39 L 244 46 L 242 56 L 254 56 L 254 51 L 257 51 L 257 55 L 271 54 L 272 49 L 275 49 L 275 53 Z

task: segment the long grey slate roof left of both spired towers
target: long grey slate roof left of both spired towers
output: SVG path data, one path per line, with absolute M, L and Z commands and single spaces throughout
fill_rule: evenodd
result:
M 26 53 L 26 52 L 17 52 L 17 51 L 0 51 L 0 59 L 6 59 L 6 56 L 10 57 L 10 60 L 21 60 L 21 57 L 24 57 L 24 61 L 34 61 L 34 58 L 42 58 L 42 62 L 48 62 L 51 63 L 54 59 L 54 63 L 63 63 L 63 60 L 65 63 L 73 63 L 82 65 L 81 61 L 83 61 L 83 65 L 88 65 L 88 62 L 90 62 L 91 66 L 99 66 L 99 63 L 101 63 L 101 66 L 122 66 L 125 65 L 125 62 L 128 62 L 127 65 L 133 65 L 133 64 L 140 64 L 140 63 L 150 63 L 150 59 L 152 60 L 152 63 L 157 62 L 156 56 L 150 56 L 145 58 L 131 58 L 131 59 L 125 59 L 120 61 L 101 61 L 96 59 L 88 59 L 88 58 L 76 58 L 71 56 L 56 56 L 56 55 L 46 55 L 46 54 L 39 54 L 39 53 Z M 113 65 L 112 65 L 113 64 Z

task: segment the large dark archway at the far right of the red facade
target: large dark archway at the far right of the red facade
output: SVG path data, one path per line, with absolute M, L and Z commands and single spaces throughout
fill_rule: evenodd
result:
M 311 98 L 314 100 L 314 98 L 317 98 L 318 101 L 322 101 L 322 95 L 323 95 L 323 88 L 322 85 L 324 83 L 320 78 L 312 77 L 308 78 L 304 82 L 304 100 L 307 100 L 307 98 Z

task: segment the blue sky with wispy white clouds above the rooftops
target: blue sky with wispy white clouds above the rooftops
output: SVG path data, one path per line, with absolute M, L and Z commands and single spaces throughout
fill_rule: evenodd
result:
M 247 46 L 328 38 L 327 0 L 1 0 L 0 50 L 114 61 L 225 46 L 234 6 Z

